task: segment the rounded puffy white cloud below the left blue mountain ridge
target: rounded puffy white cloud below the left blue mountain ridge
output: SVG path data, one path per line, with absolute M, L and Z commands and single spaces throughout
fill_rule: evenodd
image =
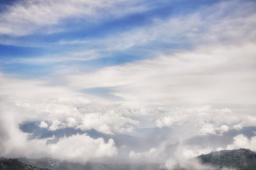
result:
M 56 144 L 48 145 L 50 154 L 55 159 L 72 162 L 87 162 L 91 158 L 111 157 L 117 154 L 115 142 L 103 138 L 92 139 L 86 134 L 64 137 Z

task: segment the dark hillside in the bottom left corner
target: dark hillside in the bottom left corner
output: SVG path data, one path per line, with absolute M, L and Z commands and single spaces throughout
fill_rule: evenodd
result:
M 18 159 L 0 159 L 0 170 L 48 170 L 45 168 L 37 168 L 23 162 L 18 161 Z

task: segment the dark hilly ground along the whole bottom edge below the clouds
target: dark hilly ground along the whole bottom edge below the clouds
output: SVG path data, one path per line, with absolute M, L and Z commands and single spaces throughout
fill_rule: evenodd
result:
M 221 170 L 256 170 L 256 152 L 250 149 L 222 150 L 211 152 L 210 154 L 201 154 L 199 162 L 206 169 Z M 203 166 L 203 167 L 204 167 Z M 87 162 L 87 164 L 78 164 L 72 162 L 62 162 L 57 159 L 6 159 L 0 158 L 0 170 L 167 170 L 161 164 L 103 164 L 96 162 Z M 177 165 L 176 170 L 188 170 Z M 204 169 L 204 168 L 203 168 Z M 191 170 L 191 168 L 189 169 Z

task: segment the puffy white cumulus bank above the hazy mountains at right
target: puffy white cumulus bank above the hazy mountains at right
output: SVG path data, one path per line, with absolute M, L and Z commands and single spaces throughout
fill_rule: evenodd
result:
M 231 116 L 234 119 L 227 121 Z M 184 140 L 193 135 L 223 135 L 223 132 L 227 132 L 230 126 L 232 127 L 240 121 L 246 122 L 249 116 L 251 115 L 243 117 L 240 113 L 234 113 L 230 109 L 216 109 L 212 106 L 162 108 L 162 113 L 158 114 L 155 125 L 159 128 L 171 127 L 180 130 L 180 137 L 183 136 L 183 138 L 179 140 Z

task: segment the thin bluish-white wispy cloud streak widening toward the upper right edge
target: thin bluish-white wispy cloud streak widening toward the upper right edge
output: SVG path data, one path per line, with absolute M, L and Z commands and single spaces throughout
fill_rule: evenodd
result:
M 234 6 L 238 4 L 240 8 L 233 11 Z M 151 24 L 104 38 L 60 40 L 59 43 L 61 45 L 84 44 L 85 47 L 91 45 L 90 48 L 97 45 L 100 46 L 97 50 L 123 51 L 132 47 L 143 47 L 150 42 L 165 44 L 190 42 L 192 45 L 255 42 L 256 14 L 253 10 L 249 10 L 254 5 L 253 2 L 226 1 L 186 16 L 171 16 L 165 20 L 154 18 Z M 250 11 L 246 15 L 244 8 Z M 212 15 L 213 11 L 218 11 L 218 15 L 216 13 Z

